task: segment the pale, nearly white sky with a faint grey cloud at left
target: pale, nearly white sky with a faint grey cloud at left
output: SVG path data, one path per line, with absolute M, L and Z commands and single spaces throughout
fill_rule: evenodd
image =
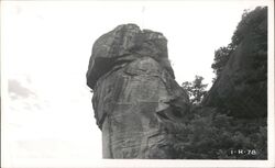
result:
M 2 160 L 101 155 L 86 71 L 94 42 L 119 24 L 162 32 L 176 80 L 211 86 L 215 51 L 243 10 L 266 1 L 2 1 Z M 6 98 L 6 99 L 4 99 Z

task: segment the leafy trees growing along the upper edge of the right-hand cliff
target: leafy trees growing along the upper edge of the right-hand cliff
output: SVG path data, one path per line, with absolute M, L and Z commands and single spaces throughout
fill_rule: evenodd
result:
M 254 65 L 263 70 L 267 69 L 265 61 L 265 55 L 267 55 L 267 7 L 257 7 L 253 11 L 244 10 L 241 22 L 238 24 L 237 30 L 231 37 L 231 43 L 228 46 L 220 47 L 215 51 L 215 59 L 211 68 L 216 74 L 215 80 L 219 77 L 224 69 L 227 61 L 229 60 L 232 52 L 241 44 L 243 38 L 248 35 L 254 38 L 254 43 L 258 46 L 255 49 L 255 63 Z M 264 55 L 264 56 L 263 56 Z M 262 66 L 266 65 L 266 66 Z M 213 80 L 213 81 L 215 81 Z

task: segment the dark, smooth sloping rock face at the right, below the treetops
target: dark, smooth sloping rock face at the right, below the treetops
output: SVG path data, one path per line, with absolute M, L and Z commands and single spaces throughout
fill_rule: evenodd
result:
M 202 103 L 238 117 L 266 116 L 267 14 L 245 32 Z

